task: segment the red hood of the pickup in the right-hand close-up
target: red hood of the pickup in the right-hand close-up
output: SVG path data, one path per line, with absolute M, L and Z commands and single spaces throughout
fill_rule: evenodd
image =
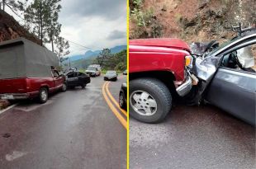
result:
M 190 47 L 189 45 L 187 45 L 186 42 L 184 42 L 183 40 L 173 39 L 173 38 L 130 40 L 129 45 L 168 47 L 168 48 L 175 48 L 175 49 L 183 49 L 190 52 Z

